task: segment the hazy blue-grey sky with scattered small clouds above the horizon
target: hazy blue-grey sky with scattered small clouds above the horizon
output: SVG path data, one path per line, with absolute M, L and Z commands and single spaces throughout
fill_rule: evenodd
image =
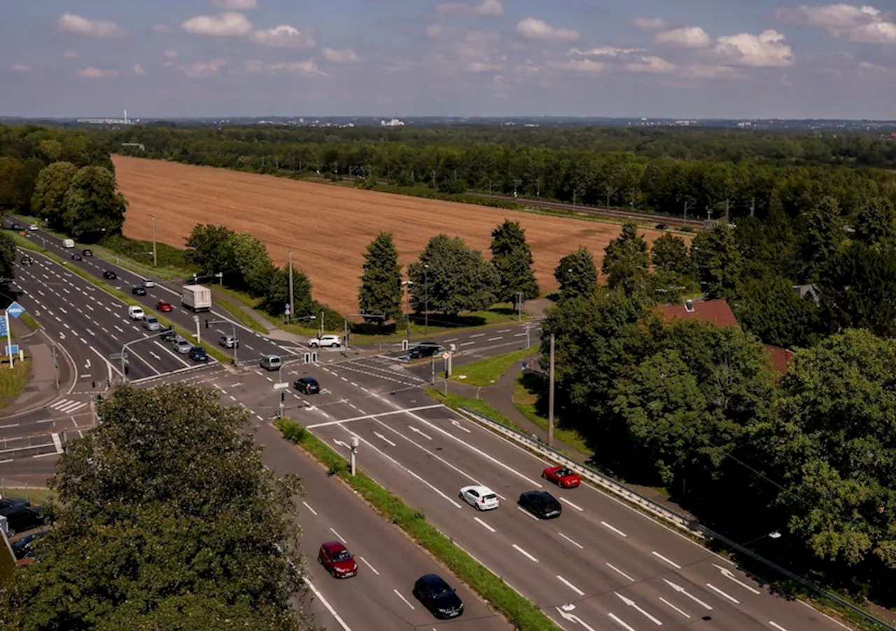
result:
M 896 119 L 896 7 L 5 0 L 0 115 Z

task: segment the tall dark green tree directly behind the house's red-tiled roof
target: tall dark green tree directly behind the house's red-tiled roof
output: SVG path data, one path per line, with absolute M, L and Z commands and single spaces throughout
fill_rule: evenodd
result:
M 743 258 L 727 224 L 716 224 L 712 230 L 694 236 L 691 260 L 708 298 L 730 298 L 735 295 Z

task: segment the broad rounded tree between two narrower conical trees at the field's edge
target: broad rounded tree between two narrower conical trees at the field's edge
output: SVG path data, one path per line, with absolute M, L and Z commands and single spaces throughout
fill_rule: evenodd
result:
M 428 305 L 430 311 L 457 315 L 488 309 L 497 301 L 495 268 L 459 236 L 438 234 L 430 239 L 419 260 L 408 266 L 408 276 L 416 312 Z

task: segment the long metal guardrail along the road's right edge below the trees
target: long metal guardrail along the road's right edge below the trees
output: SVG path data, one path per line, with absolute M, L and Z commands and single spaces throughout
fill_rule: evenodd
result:
M 822 587 L 812 583 L 806 578 L 802 576 L 798 576 L 794 574 L 786 567 L 781 567 L 774 561 L 770 561 L 769 559 L 765 559 L 760 555 L 756 554 L 753 550 L 749 550 L 744 546 L 736 543 L 735 541 L 731 541 L 723 534 L 716 533 L 711 529 L 707 528 L 703 524 L 694 521 L 685 516 L 681 516 L 673 510 L 670 510 L 667 507 L 664 507 L 657 502 L 653 501 L 650 498 L 643 496 L 641 493 L 636 490 L 631 490 L 623 484 L 616 482 L 615 480 L 608 478 L 606 475 L 599 473 L 592 469 L 588 465 L 583 465 L 578 460 L 573 460 L 573 458 L 566 456 L 565 454 L 560 453 L 555 448 L 548 447 L 545 443 L 538 438 L 538 436 L 530 436 L 528 434 L 524 434 L 521 431 L 514 430 L 513 428 L 507 427 L 503 423 L 496 422 L 487 416 L 483 416 L 482 414 L 478 414 L 477 412 L 473 412 L 472 410 L 461 407 L 461 412 L 469 416 L 472 420 L 479 422 L 482 425 L 485 425 L 492 430 L 497 431 L 498 433 L 512 439 L 526 447 L 537 451 L 538 453 L 547 456 L 547 458 L 560 463 L 569 469 L 579 473 L 582 477 L 590 480 L 590 482 L 595 482 L 600 487 L 609 490 L 610 492 L 618 495 L 621 498 L 627 499 L 638 507 L 642 507 L 644 510 L 649 511 L 652 515 L 659 516 L 662 519 L 668 521 L 671 524 L 674 524 L 676 527 L 681 528 L 682 530 L 687 531 L 688 533 L 692 533 L 702 539 L 706 540 L 715 540 L 719 541 L 723 545 L 727 546 L 731 550 L 737 550 L 737 552 L 741 554 L 745 554 L 746 556 L 754 559 L 755 561 L 761 563 L 763 566 L 774 570 L 780 576 L 785 576 L 788 579 L 801 584 L 810 592 L 821 596 L 824 599 L 829 601 L 836 602 L 840 607 L 845 610 L 849 610 L 857 616 L 864 618 L 866 622 L 870 622 L 878 628 L 886 629 L 887 631 L 896 631 L 896 627 L 891 625 L 890 623 L 873 616 L 868 613 L 866 610 L 863 610 L 853 603 L 844 600 L 840 596 L 835 593 L 828 592 Z

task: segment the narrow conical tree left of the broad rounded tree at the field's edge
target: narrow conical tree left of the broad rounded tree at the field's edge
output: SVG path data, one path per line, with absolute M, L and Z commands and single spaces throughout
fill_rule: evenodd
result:
M 367 245 L 364 272 L 358 289 L 361 313 L 385 314 L 389 320 L 401 318 L 401 265 L 392 233 L 376 235 Z M 381 325 L 383 320 L 377 320 Z

